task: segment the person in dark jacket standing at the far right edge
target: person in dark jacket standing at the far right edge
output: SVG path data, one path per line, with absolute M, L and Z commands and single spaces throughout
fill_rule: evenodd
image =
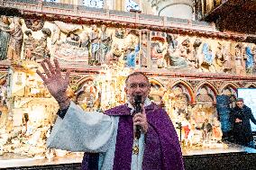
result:
M 243 103 L 242 98 L 238 98 L 235 104 L 232 112 L 234 142 L 245 147 L 253 147 L 250 120 L 254 124 L 256 120 L 251 109 Z

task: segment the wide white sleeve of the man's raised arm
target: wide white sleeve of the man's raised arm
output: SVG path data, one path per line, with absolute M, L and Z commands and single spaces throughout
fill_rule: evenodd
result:
M 47 147 L 74 152 L 105 152 L 113 137 L 114 124 L 114 117 L 102 112 L 84 112 L 71 102 L 64 119 L 58 116 Z

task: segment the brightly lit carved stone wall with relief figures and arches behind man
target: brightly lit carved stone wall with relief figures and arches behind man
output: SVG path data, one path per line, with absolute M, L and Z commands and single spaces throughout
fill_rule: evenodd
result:
M 63 74 L 71 69 L 69 97 L 85 111 L 125 103 L 125 76 L 142 71 L 150 78 L 150 98 L 165 107 L 174 124 L 189 124 L 196 131 L 208 118 L 218 130 L 215 141 L 222 137 L 216 96 L 236 96 L 237 88 L 256 87 L 256 46 L 242 40 L 54 17 L 1 15 L 0 23 L 2 154 L 52 157 L 45 141 L 58 104 L 35 73 L 45 58 L 57 58 Z M 185 130 L 180 140 L 186 147 L 225 147 L 209 143 L 200 130 L 189 139 Z

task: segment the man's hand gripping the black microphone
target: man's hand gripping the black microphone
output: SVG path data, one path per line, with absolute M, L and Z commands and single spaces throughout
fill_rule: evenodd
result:
M 136 113 L 133 116 L 133 126 L 135 127 L 136 125 L 139 125 L 142 127 L 142 132 L 145 134 L 147 133 L 148 129 L 149 129 L 149 124 L 147 121 L 147 115 L 145 112 L 145 108 L 142 106 L 142 112 Z

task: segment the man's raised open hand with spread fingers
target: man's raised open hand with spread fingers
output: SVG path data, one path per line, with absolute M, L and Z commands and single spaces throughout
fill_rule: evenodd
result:
M 53 68 L 48 58 L 41 61 L 41 67 L 43 68 L 46 76 L 42 75 L 42 73 L 39 70 L 36 70 L 36 73 L 39 76 L 41 76 L 41 79 L 43 80 L 44 85 L 47 86 L 50 94 L 59 103 L 59 108 L 65 109 L 69 107 L 69 103 L 70 103 L 69 97 L 66 93 L 69 85 L 70 71 L 68 70 L 65 78 L 63 78 L 61 76 L 59 62 L 57 61 L 57 59 L 54 59 L 53 61 L 55 64 L 55 69 Z M 48 68 L 46 67 L 45 63 L 47 63 Z

